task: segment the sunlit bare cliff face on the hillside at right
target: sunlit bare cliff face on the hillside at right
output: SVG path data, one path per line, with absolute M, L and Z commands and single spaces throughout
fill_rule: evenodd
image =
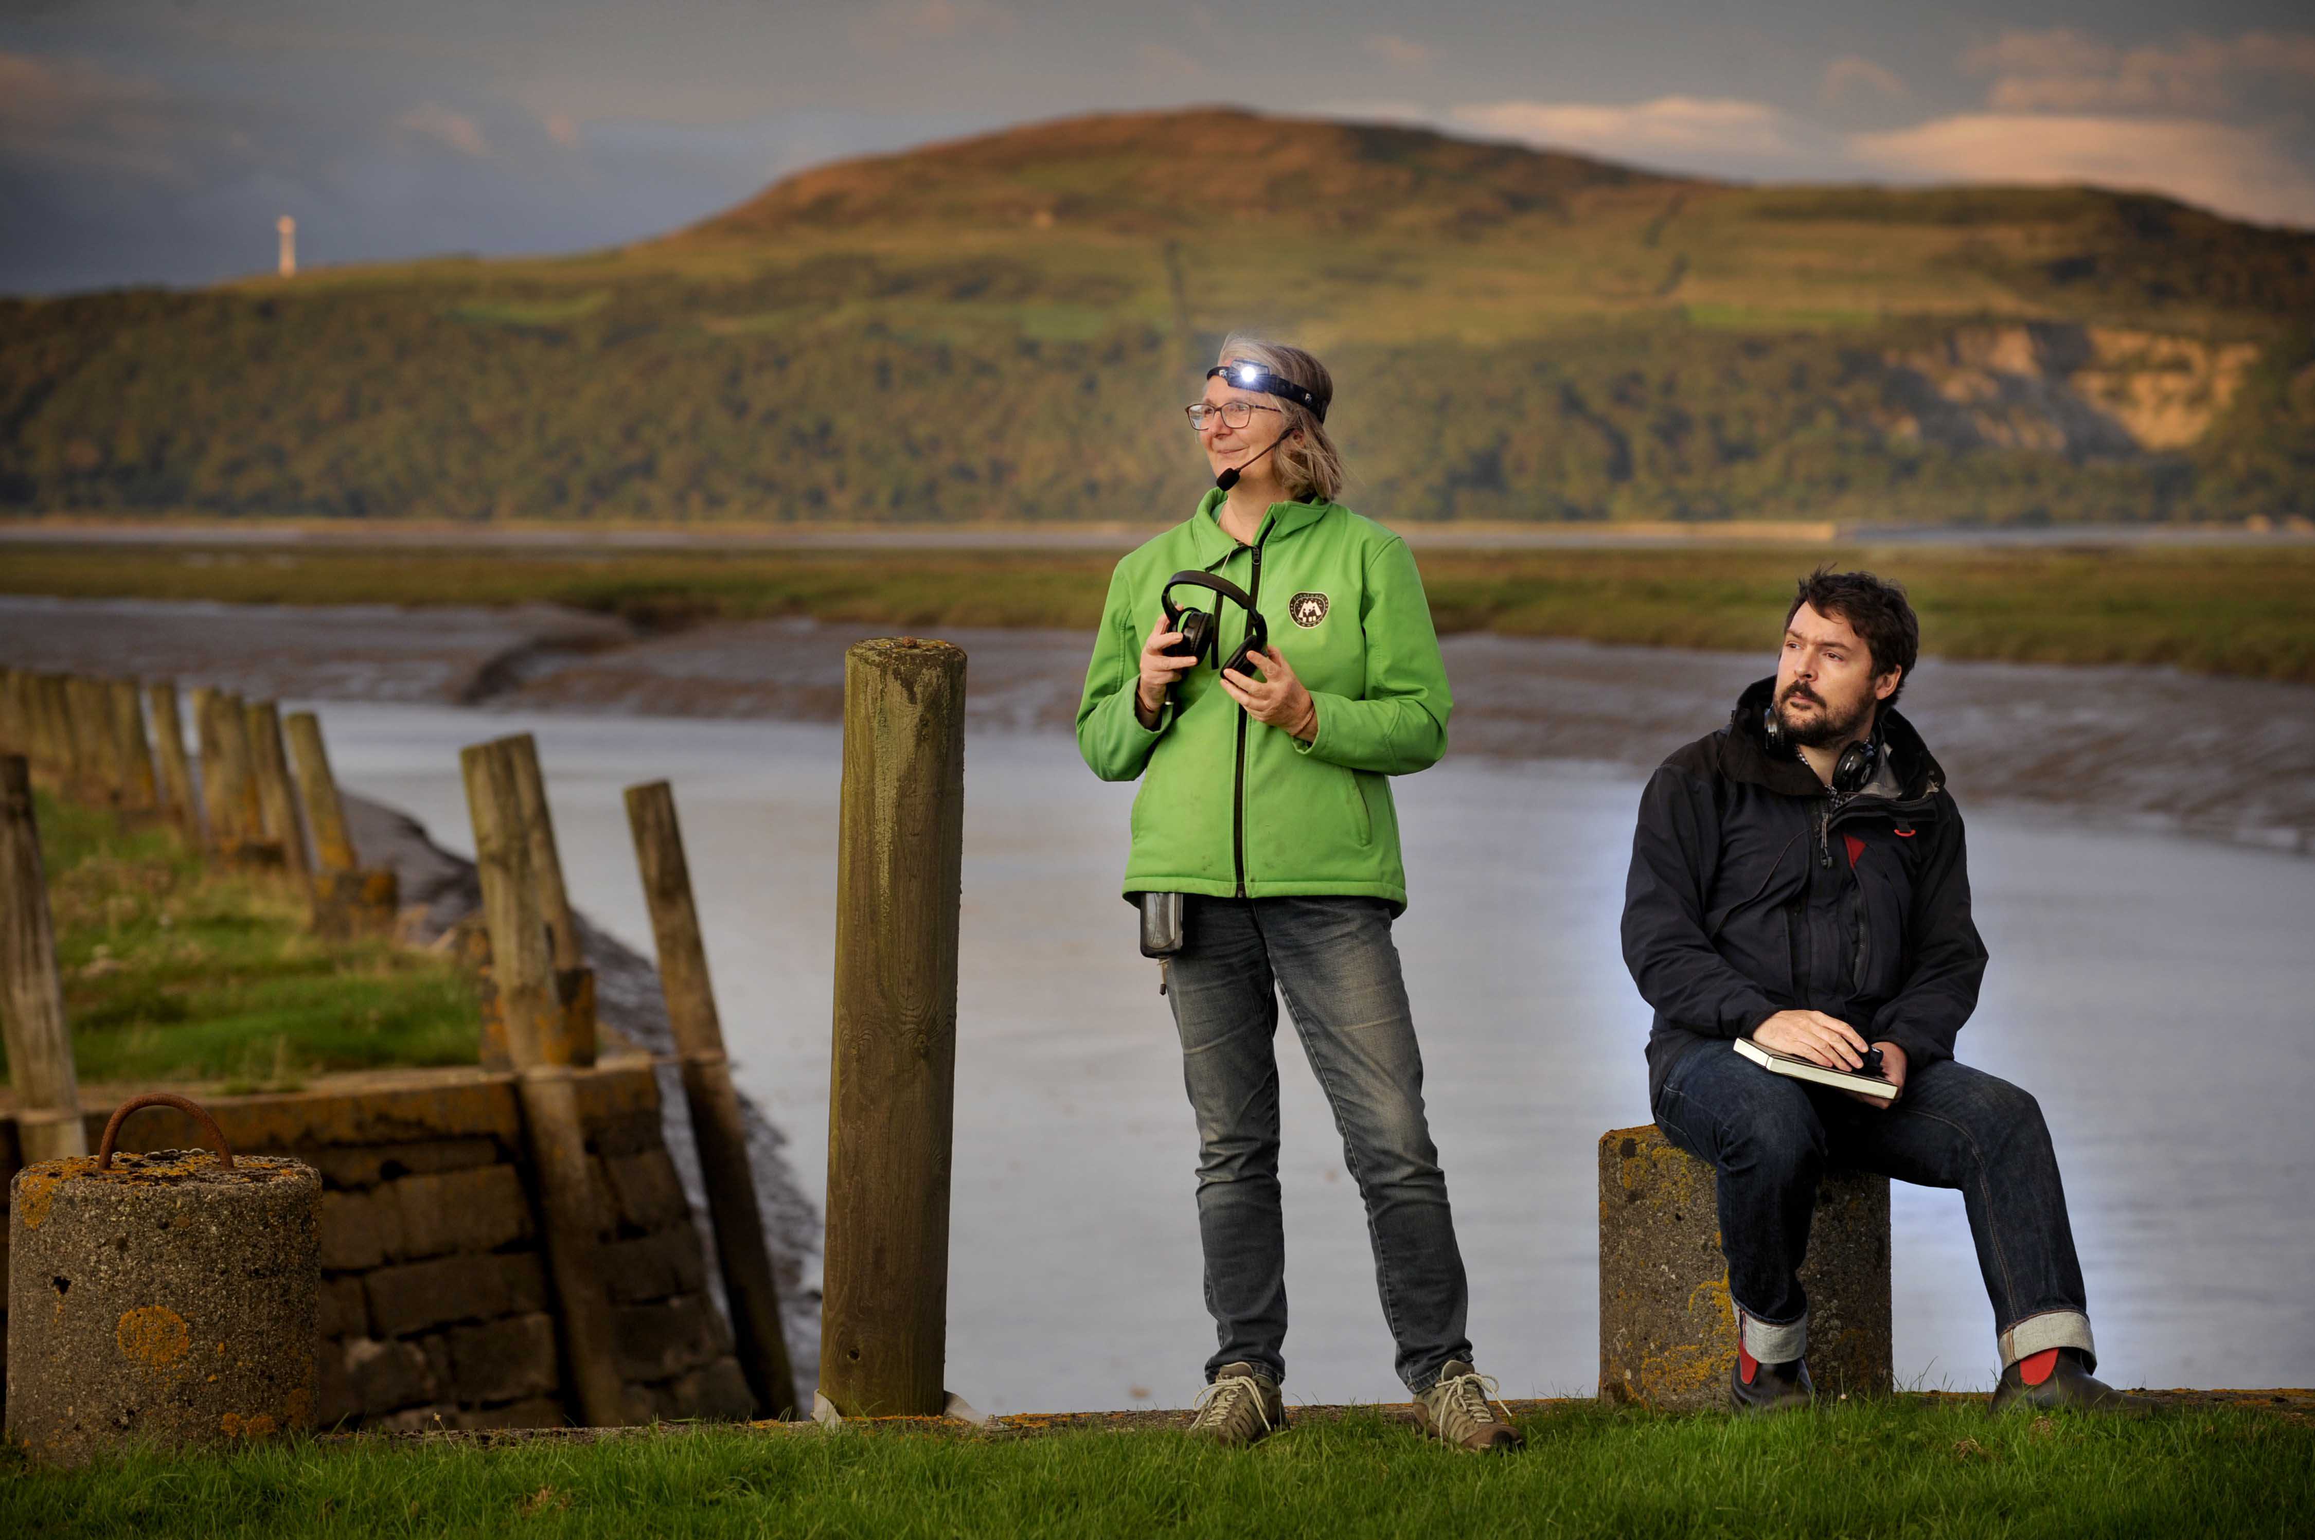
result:
M 1887 428 L 1947 449 L 2037 449 L 2074 461 L 2197 445 L 2234 403 L 2255 343 L 2123 327 L 1961 327 L 1889 352 Z

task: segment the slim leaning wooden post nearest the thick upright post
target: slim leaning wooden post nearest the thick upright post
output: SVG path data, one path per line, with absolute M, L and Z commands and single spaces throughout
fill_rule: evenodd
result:
M 560 1003 L 539 882 L 530 866 L 521 776 L 514 753 L 475 743 L 458 755 L 465 806 L 475 820 L 475 868 L 491 931 L 491 973 L 505 1021 L 514 1088 L 523 1107 L 530 1169 L 539 1183 L 546 1267 L 563 1306 L 563 1357 L 572 1366 L 579 1410 L 593 1427 L 620 1427 L 627 1387 L 611 1345 L 611 1301 L 595 1255 L 595 1188 L 588 1174 L 579 1088 L 565 1056 Z

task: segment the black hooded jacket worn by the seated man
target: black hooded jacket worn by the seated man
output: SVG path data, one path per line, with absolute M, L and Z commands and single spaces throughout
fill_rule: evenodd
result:
M 1977 1007 L 1986 945 L 1945 771 L 1884 709 L 1875 776 L 1838 799 L 1769 746 L 1773 688 L 1748 688 L 1729 725 L 1664 760 L 1639 799 L 1623 961 L 1655 1007 L 1651 1102 L 1683 1054 L 1780 1010 L 1838 1017 L 1917 1070 L 1954 1056 Z

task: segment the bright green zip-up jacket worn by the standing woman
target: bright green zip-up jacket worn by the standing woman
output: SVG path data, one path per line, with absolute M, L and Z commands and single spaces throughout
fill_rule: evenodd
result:
M 1273 503 L 1243 547 L 1215 521 L 1220 505 L 1206 493 L 1118 563 L 1086 667 L 1076 748 L 1102 780 L 1141 778 L 1125 894 L 1364 894 L 1405 908 L 1389 776 L 1438 764 L 1454 706 L 1414 556 L 1338 503 Z M 1155 727 L 1134 716 L 1141 644 L 1183 570 L 1255 597 L 1317 706 L 1310 743 L 1229 699 L 1213 665 L 1245 637 L 1245 611 L 1206 588 L 1174 602 L 1220 611 L 1213 658 L 1181 679 Z

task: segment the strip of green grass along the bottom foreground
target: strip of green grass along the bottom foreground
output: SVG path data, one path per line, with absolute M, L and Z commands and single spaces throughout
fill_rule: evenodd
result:
M 697 1431 L 498 1450 L 357 1440 L 0 1466 L 25 1535 L 2303 1535 L 2315 1429 L 1970 1406 L 1771 1422 L 1565 1408 L 1528 1450 L 1438 1450 L 1377 1413 L 1250 1452 L 1176 1433 Z

